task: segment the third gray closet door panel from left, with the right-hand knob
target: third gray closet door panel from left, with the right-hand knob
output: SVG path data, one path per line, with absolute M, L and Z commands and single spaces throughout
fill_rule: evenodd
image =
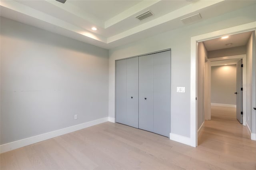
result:
M 139 128 L 153 132 L 153 55 L 139 57 Z

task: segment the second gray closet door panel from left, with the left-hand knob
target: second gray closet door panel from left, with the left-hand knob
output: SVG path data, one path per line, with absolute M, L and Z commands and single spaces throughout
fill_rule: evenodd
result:
M 138 57 L 126 59 L 126 125 L 138 128 Z

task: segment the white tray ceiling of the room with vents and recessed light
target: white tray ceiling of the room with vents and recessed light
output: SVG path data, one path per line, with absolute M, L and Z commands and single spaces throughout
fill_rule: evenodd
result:
M 106 49 L 256 4 L 252 0 L 0 0 L 0 15 Z M 142 21 L 135 16 L 150 10 Z M 180 20 L 200 13 L 202 19 Z M 98 30 L 93 31 L 91 28 Z

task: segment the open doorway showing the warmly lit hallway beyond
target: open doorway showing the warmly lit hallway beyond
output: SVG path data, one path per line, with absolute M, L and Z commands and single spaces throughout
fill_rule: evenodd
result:
M 246 49 L 251 35 L 252 31 L 198 42 L 197 138 L 204 134 L 198 144 L 212 140 L 210 134 L 226 138 L 247 134 L 246 138 L 250 138 L 246 127 L 240 124 L 246 125 L 243 85 L 246 85 Z

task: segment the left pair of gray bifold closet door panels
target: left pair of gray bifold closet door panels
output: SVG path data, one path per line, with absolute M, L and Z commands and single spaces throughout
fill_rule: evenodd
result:
M 138 57 L 116 61 L 116 122 L 138 128 Z

